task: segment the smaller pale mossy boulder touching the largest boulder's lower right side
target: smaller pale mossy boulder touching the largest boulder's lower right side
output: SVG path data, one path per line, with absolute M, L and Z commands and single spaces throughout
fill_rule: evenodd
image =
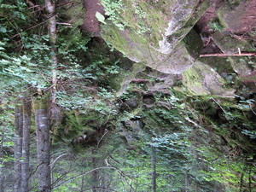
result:
M 194 96 L 234 97 L 235 90 L 224 84 L 225 80 L 212 67 L 200 61 L 183 73 L 183 85 Z

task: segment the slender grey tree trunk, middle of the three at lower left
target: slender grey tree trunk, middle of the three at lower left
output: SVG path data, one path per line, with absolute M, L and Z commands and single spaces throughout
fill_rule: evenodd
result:
M 21 192 L 29 191 L 29 149 L 31 129 L 32 102 L 26 97 L 23 102 L 23 132 L 22 132 L 22 162 L 21 162 Z

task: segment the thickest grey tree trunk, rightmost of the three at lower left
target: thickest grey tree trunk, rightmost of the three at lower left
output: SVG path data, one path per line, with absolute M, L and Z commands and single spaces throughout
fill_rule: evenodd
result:
M 38 148 L 38 191 L 49 192 L 51 191 L 51 178 L 47 102 L 36 100 L 34 106 Z

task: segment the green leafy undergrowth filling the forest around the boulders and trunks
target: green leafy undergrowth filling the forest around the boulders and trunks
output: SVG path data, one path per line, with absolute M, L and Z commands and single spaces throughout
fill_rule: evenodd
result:
M 108 20 L 121 30 L 129 25 L 120 16 L 124 2 L 102 1 Z M 34 105 L 49 97 L 52 53 L 44 1 L 37 6 L 22 0 L 0 3 L 0 167 L 6 166 L 3 175 L 11 177 L 15 106 L 21 105 L 22 97 L 31 96 Z M 150 31 L 147 13 L 137 1 L 134 6 L 140 18 L 138 31 Z M 61 7 L 61 21 L 80 16 L 72 6 Z M 54 191 L 84 191 L 91 186 L 149 191 L 153 170 L 159 191 L 252 191 L 252 87 L 229 72 L 224 78 L 230 79 L 227 86 L 236 86 L 235 98 L 192 96 L 181 75 L 173 75 L 175 83 L 166 85 L 166 74 L 157 78 L 155 70 L 143 64 L 143 70 L 131 73 L 133 61 L 80 32 L 79 23 L 69 24 L 73 26 L 58 26 L 56 101 L 49 105 L 49 112 L 58 116 L 50 119 L 57 121 L 50 127 Z M 218 22 L 210 26 L 223 30 Z M 247 62 L 253 66 L 253 60 Z M 37 172 L 33 131 L 34 121 L 31 180 Z M 38 181 L 33 182 L 32 189 Z M 12 189 L 10 184 L 6 187 Z

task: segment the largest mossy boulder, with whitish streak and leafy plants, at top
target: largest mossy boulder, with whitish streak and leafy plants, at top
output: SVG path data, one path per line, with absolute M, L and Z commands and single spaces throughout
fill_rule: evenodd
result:
M 209 6 L 208 1 L 196 13 L 199 0 L 122 2 L 124 7 L 120 6 L 117 13 L 125 29 L 106 20 L 102 38 L 132 61 L 161 73 L 180 74 L 193 65 L 202 44 L 191 29 Z

